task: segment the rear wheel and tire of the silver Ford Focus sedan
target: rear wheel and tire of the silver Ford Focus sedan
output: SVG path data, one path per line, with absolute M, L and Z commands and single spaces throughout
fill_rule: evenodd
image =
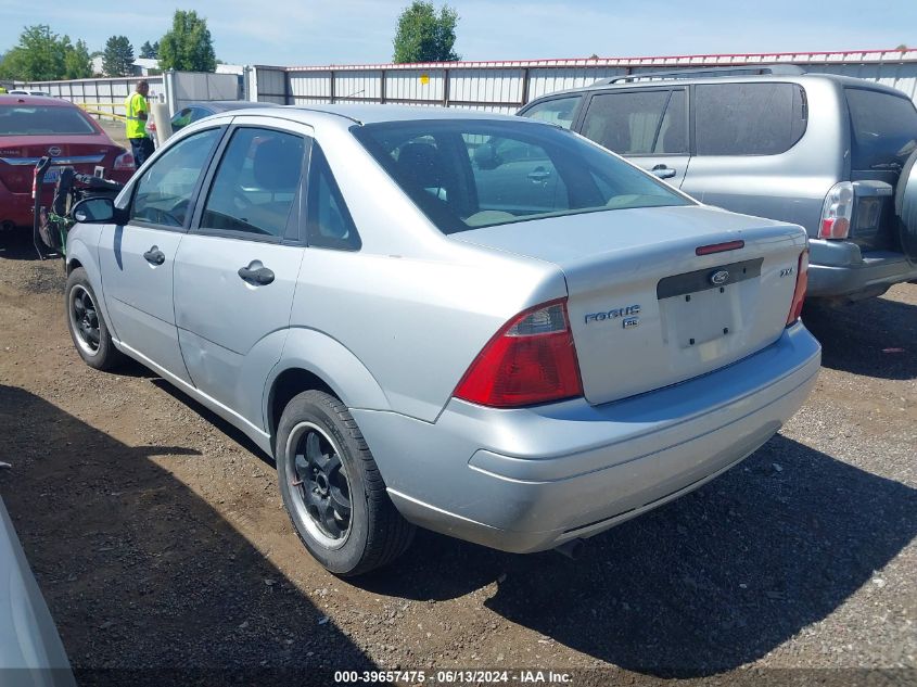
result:
M 275 447 L 283 505 L 309 554 L 353 577 L 386 565 L 413 538 L 347 407 L 311 390 L 283 410 Z

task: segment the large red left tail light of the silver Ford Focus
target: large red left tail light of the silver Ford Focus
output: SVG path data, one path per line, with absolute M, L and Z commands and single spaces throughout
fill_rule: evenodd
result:
M 583 395 L 566 300 L 521 313 L 484 346 L 455 396 L 493 408 L 517 408 Z

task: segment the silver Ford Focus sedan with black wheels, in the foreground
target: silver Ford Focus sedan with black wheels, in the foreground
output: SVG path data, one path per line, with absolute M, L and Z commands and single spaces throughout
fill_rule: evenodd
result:
M 802 229 L 519 117 L 229 112 L 73 214 L 79 355 L 140 360 L 272 454 L 339 574 L 413 524 L 571 546 L 751 454 L 818 371 Z

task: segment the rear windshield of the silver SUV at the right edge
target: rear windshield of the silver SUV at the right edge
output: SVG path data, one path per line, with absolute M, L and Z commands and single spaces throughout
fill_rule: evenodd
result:
M 917 148 L 917 110 L 907 98 L 846 89 L 853 169 L 901 169 Z

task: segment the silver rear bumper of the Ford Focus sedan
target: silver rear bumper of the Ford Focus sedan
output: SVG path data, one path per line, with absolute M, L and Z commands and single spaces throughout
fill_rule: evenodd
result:
M 435 423 L 353 414 L 408 520 L 530 552 L 598 534 L 727 470 L 804 403 L 819 364 L 818 343 L 795 325 L 727 368 L 602 406 L 453 399 Z

